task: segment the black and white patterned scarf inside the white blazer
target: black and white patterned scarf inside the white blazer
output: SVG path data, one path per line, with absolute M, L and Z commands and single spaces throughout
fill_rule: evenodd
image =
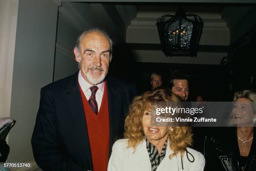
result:
M 167 138 L 167 140 L 168 140 L 168 138 Z M 163 161 L 163 159 L 165 157 L 167 140 L 164 142 L 164 146 L 162 148 L 161 154 L 159 155 L 157 148 L 146 139 L 147 150 L 148 150 L 148 155 L 150 158 L 152 171 L 156 171 L 157 167 L 159 166 L 159 164 L 161 163 L 161 161 Z

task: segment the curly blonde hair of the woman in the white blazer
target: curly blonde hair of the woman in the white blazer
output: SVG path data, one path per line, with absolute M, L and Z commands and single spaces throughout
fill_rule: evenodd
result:
M 130 105 L 128 116 L 125 119 L 125 138 L 128 138 L 128 148 L 134 151 L 139 143 L 145 140 L 142 125 L 142 116 L 151 109 L 151 102 L 179 102 L 170 89 L 156 89 L 137 96 Z M 181 152 L 183 156 L 187 146 L 192 145 L 190 127 L 172 127 L 169 129 L 169 146 L 174 151 L 169 158 Z

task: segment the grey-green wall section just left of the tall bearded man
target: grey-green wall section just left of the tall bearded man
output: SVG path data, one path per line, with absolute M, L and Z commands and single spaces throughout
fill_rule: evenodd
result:
M 58 6 L 52 0 L 18 4 L 10 117 L 8 161 L 33 162 L 31 135 L 40 88 L 52 82 Z

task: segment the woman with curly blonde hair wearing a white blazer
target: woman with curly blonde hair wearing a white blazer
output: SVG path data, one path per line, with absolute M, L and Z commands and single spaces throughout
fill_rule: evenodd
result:
M 125 138 L 113 145 L 108 171 L 203 171 L 205 158 L 188 148 L 189 127 L 152 127 L 152 102 L 177 102 L 168 89 L 145 92 L 133 100 L 125 119 Z

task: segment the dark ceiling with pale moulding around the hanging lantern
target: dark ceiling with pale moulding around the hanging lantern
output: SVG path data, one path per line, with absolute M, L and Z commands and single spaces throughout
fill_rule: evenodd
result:
M 200 15 L 204 30 L 200 41 L 202 50 L 197 58 L 173 56 L 166 58 L 161 52 L 156 20 L 164 14 L 174 14 L 178 3 L 62 3 L 59 13 L 70 20 L 72 27 L 82 31 L 90 26 L 102 27 L 114 35 L 116 43 L 126 43 L 132 49 L 136 62 L 213 64 L 218 65 L 226 56 L 230 37 L 235 41 L 254 22 L 241 23 L 242 18 L 255 16 L 256 6 L 225 3 L 181 3 L 186 13 Z M 234 7 L 234 8 L 231 8 Z M 243 8 L 242 8 L 243 7 Z M 97 15 L 95 15 L 97 12 Z M 89 13 L 89 14 L 88 14 Z M 94 15 L 92 18 L 91 13 Z M 73 16 L 73 17 L 72 17 Z M 101 21 L 101 22 L 99 22 Z M 243 20 L 242 20 L 243 21 Z M 247 21 L 247 20 L 246 20 Z M 240 22 L 240 23 L 239 23 Z M 240 29 L 243 26 L 246 29 Z M 236 28 L 231 35 L 230 28 Z M 231 35 L 231 36 L 230 36 Z M 151 48 L 153 45 L 156 48 Z M 146 47 L 146 48 L 145 48 Z M 205 50 L 206 49 L 206 50 Z M 224 50 L 223 50 L 224 49 Z M 72 54 L 72 51 L 70 51 Z M 155 58 L 155 56 L 158 56 Z

